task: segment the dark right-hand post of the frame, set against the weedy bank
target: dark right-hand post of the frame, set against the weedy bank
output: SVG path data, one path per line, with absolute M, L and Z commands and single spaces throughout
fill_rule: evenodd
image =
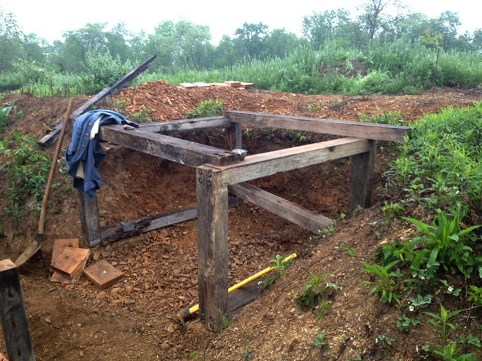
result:
M 370 207 L 372 196 L 373 175 L 375 174 L 375 155 L 377 141 L 370 140 L 369 152 L 351 157 L 350 188 L 348 190 L 348 212 L 353 212 L 357 206 Z

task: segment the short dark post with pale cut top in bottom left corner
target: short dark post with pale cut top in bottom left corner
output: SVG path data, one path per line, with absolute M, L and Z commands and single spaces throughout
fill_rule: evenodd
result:
M 19 269 L 10 259 L 0 261 L 0 320 L 8 360 L 34 361 Z

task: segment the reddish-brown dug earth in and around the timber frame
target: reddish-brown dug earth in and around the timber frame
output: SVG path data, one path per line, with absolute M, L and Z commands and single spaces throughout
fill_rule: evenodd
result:
M 41 99 L 12 94 L 4 101 L 20 98 L 17 105 L 25 116 L 12 116 L 8 130 L 24 135 L 45 134 L 65 112 L 67 99 Z M 260 111 L 316 118 L 357 120 L 383 111 L 401 111 L 405 124 L 423 113 L 437 112 L 448 106 L 464 107 L 481 100 L 477 89 L 442 89 L 434 102 L 430 94 L 419 96 L 304 96 L 251 89 L 230 88 L 176 89 L 162 81 L 127 88 L 103 102 L 99 108 L 118 109 L 125 100 L 126 116 L 146 107 L 154 121 L 182 118 L 202 100 L 224 100 L 224 109 Z M 341 100 L 341 101 L 338 101 Z M 85 98 L 75 98 L 81 105 Z M 318 111 L 308 111 L 308 106 Z M 70 135 L 64 148 L 70 144 Z M 307 135 L 308 142 L 327 139 Z M 221 131 L 189 135 L 189 139 L 224 146 Z M 244 126 L 243 146 L 249 153 L 300 145 L 296 135 L 273 129 Z M 380 243 L 406 239 L 413 230 L 399 218 L 392 219 L 377 239 L 377 226 L 384 220 L 384 201 L 398 201 L 399 190 L 384 189 L 392 151 L 388 144 L 378 150 L 373 206 L 341 221 L 336 230 L 315 240 L 314 234 L 270 212 L 243 204 L 229 211 L 230 285 L 270 265 L 273 253 L 299 257 L 284 281 L 265 290 L 254 303 L 235 317 L 226 331 L 215 335 L 206 331 L 198 318 L 180 324 L 176 312 L 197 303 L 196 220 L 98 246 L 105 259 L 125 273 L 125 281 L 100 291 L 86 278 L 77 285 L 63 286 L 48 281 L 52 241 L 81 238 L 76 192 L 70 179 L 57 171 L 45 223 L 45 245 L 41 253 L 21 267 L 21 285 L 37 360 L 417 360 L 423 344 L 439 342 L 437 333 L 418 316 L 420 326 L 410 333 L 396 327 L 401 316 L 397 307 L 387 307 L 370 288 L 360 285 L 368 280 L 362 274 L 362 261 L 370 261 Z M 107 145 L 107 157 L 99 171 L 104 186 L 98 192 L 101 225 L 162 212 L 196 201 L 194 171 L 143 153 Z M 52 156 L 54 147 L 44 153 Z M 4 164 L 1 166 L 3 169 Z M 278 173 L 252 182 L 271 193 L 293 201 L 331 219 L 346 212 L 350 160 L 336 161 Z M 0 209 L 7 206 L 6 172 L 0 170 Z M 295 197 L 295 195 L 297 195 Z M 38 215 L 25 212 L 19 223 L 1 215 L 0 258 L 15 259 L 25 245 L 36 238 Z M 430 219 L 420 208 L 408 208 L 406 215 Z M 82 242 L 81 242 L 82 243 Z M 355 256 L 340 252 L 341 245 L 357 251 Z M 92 259 L 87 265 L 92 264 Z M 313 309 L 299 309 L 294 302 L 309 272 L 332 274 L 327 281 L 342 289 L 326 298 L 332 311 L 315 318 Z M 457 278 L 449 278 L 457 285 Z M 454 309 L 469 307 L 465 299 L 435 296 Z M 404 307 L 405 309 L 405 307 Z M 429 311 L 438 313 L 434 302 Z M 408 311 L 404 311 L 408 314 Z M 412 315 L 410 315 L 412 316 Z M 458 332 L 481 336 L 477 326 L 478 310 L 465 312 L 457 319 L 463 324 Z M 413 316 L 415 317 L 415 315 Z M 474 318 L 475 317 L 475 318 Z M 315 336 L 326 332 L 328 347 L 315 347 Z M 379 335 L 395 338 L 392 346 L 375 343 Z M 384 350 L 384 351 L 383 351 Z M 3 338 L 0 352 L 5 353 Z M 386 353 L 385 353 L 386 352 Z M 250 358 L 251 357 L 251 358 Z

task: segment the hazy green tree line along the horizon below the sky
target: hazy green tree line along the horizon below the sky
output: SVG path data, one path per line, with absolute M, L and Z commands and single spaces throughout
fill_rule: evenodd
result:
M 151 72 L 176 69 L 218 69 L 241 61 L 283 58 L 297 47 L 317 50 L 326 43 L 364 48 L 375 38 L 393 42 L 405 38 L 412 43 L 430 31 L 439 36 L 439 47 L 459 52 L 482 51 L 482 28 L 459 34 L 457 12 L 439 17 L 411 13 L 397 0 L 367 0 L 356 14 L 348 10 L 313 12 L 302 21 L 302 36 L 285 28 L 269 30 L 264 23 L 243 23 L 233 36 L 224 35 L 217 46 L 211 44 L 209 26 L 189 20 L 161 21 L 153 33 L 134 33 L 120 22 L 86 23 L 83 28 L 65 31 L 52 44 L 34 33 L 24 34 L 14 14 L 0 7 L 0 72 L 14 72 L 25 63 L 35 63 L 53 72 L 85 72 L 89 56 L 109 54 L 121 63 L 141 63 L 157 54 Z

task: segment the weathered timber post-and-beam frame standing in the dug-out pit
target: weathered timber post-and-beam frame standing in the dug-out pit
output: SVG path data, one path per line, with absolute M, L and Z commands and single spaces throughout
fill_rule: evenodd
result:
M 341 135 L 347 138 L 249 155 L 241 161 L 239 155 L 231 151 L 169 136 L 224 128 L 227 129 L 227 149 L 240 149 L 241 124 Z M 315 233 L 321 232 L 331 223 L 331 219 L 245 182 L 351 156 L 348 209 L 355 210 L 357 206 L 367 208 L 370 206 L 377 140 L 404 142 L 404 137 L 409 132 L 410 127 L 388 124 L 247 111 L 225 111 L 224 116 L 220 117 L 141 124 L 140 128 L 134 131 L 125 130 L 119 125 L 101 127 L 98 135 L 101 141 L 113 142 L 196 168 L 197 208 L 169 210 L 162 215 L 140 217 L 101 228 L 96 199 L 87 201 L 85 196 L 79 193 L 83 239 L 90 246 L 107 244 L 197 217 L 200 319 L 207 329 L 217 331 L 224 325 L 224 319 L 231 316 L 234 309 L 240 308 L 240 296 L 233 299 L 231 293 L 228 297 L 228 207 L 238 206 L 240 199 L 247 199 Z M 229 199 L 229 193 L 237 197 Z M 258 294 L 256 287 L 253 290 L 251 293 L 254 296 L 244 297 L 244 303 L 251 302 Z

